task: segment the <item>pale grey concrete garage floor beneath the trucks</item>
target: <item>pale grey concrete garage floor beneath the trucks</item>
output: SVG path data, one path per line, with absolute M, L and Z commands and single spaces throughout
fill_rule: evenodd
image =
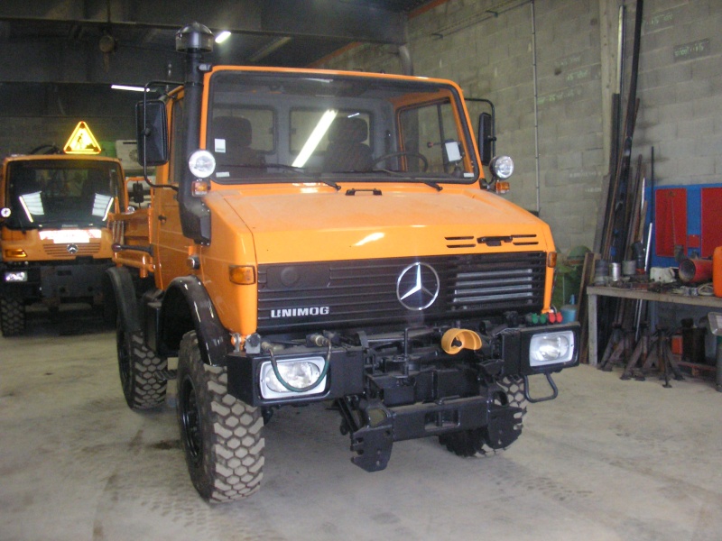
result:
M 403 442 L 376 473 L 349 462 L 337 413 L 284 409 L 264 428 L 262 490 L 209 506 L 174 410 L 126 408 L 115 335 L 77 334 L 93 325 L 79 321 L 0 338 L 3 541 L 722 538 L 722 394 L 709 381 L 664 389 L 581 366 L 503 453 Z

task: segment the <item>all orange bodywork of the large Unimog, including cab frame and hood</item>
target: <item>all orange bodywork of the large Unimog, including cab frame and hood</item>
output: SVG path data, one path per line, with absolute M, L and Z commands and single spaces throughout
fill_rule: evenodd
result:
M 219 72 L 244 72 L 259 76 L 287 73 L 311 77 L 328 76 L 330 73 L 382 81 L 408 79 L 341 71 L 214 67 L 204 76 L 199 149 L 207 149 L 208 146 L 211 78 Z M 396 138 L 402 149 L 407 134 L 402 133 L 399 117 L 404 111 L 419 105 L 454 105 L 463 100 L 460 88 L 454 83 L 424 80 L 442 83 L 446 89 L 435 94 L 409 92 L 390 100 L 396 118 L 396 133 L 389 133 L 389 137 Z M 182 99 L 183 92 L 179 88 L 171 93 L 166 103 L 168 133 L 175 131 L 172 125 L 173 107 Z M 258 285 L 233 283 L 229 276 L 232 267 L 253 268 L 257 276 L 259 265 L 282 263 L 554 252 L 551 231 L 542 220 L 494 193 L 477 188 L 477 182 L 483 179 L 484 173 L 477 165 L 480 161 L 475 134 L 469 128 L 471 123 L 466 108 L 457 105 L 452 108 L 453 120 L 449 126 L 456 133 L 463 133 L 458 138 L 461 155 L 458 179 L 462 181 L 456 184 L 444 183 L 443 189 L 437 191 L 423 182 L 355 182 L 339 175 L 334 177 L 334 181 L 342 185 L 337 190 L 321 182 L 218 182 L 211 175 L 208 179 L 210 190 L 203 197 L 210 215 L 212 234 L 208 245 L 195 244 L 182 235 L 177 192 L 170 188 L 155 188 L 151 190 L 153 203 L 149 208 L 114 216 L 119 224 L 116 230 L 118 241 L 122 240 L 121 243 L 129 246 L 153 246 L 153 256 L 148 252 L 128 249 L 116 253 L 115 261 L 140 269 L 143 276 L 153 273 L 159 289 L 167 287 L 175 277 L 198 276 L 223 326 L 231 333 L 245 336 L 255 333 L 257 328 Z M 411 126 L 413 128 L 413 124 Z M 287 128 L 281 126 L 278 129 Z M 444 141 L 430 141 L 429 145 L 440 146 Z M 217 151 L 216 148 L 207 150 Z M 169 164 L 155 170 L 155 182 L 160 186 L 178 181 L 176 177 L 179 174 L 174 173 L 172 168 L 174 163 L 180 162 L 173 161 L 172 153 L 171 142 Z M 405 160 L 405 157 L 400 160 Z M 470 173 L 471 170 L 475 173 Z M 380 195 L 374 195 L 370 188 L 379 190 Z M 358 191 L 356 195 L 349 196 L 349 189 Z M 514 241 L 499 245 L 478 241 L 483 237 L 509 236 Z M 190 269 L 190 255 L 197 256 L 198 269 Z M 550 307 L 553 272 L 553 268 L 547 268 L 544 310 Z

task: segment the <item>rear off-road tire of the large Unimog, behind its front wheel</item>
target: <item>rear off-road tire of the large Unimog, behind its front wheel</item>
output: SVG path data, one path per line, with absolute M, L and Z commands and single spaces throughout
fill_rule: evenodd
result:
M 118 320 L 116 327 L 118 371 L 123 394 L 131 409 L 150 409 L 162 405 L 168 382 L 162 372 L 168 361 L 143 344 L 140 331 L 127 332 Z

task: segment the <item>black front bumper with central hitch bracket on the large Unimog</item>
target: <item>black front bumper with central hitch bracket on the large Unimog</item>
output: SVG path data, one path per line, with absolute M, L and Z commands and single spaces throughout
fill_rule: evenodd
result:
M 561 362 L 530 361 L 535 336 L 551 340 L 558 335 L 565 336 L 573 348 Z M 298 346 L 274 358 L 276 362 L 318 359 L 319 349 Z M 496 337 L 493 349 L 498 355 L 481 358 L 466 352 L 439 358 L 418 370 L 382 371 L 361 347 L 330 348 L 323 388 L 273 399 L 264 398 L 260 383 L 270 356 L 230 353 L 227 389 L 260 408 L 334 400 L 343 417 L 342 432 L 351 437 L 352 462 L 375 472 L 386 467 L 397 441 L 480 430 L 493 448 L 511 445 L 520 434 L 523 409 L 507 401 L 501 381 L 523 379 L 525 396 L 532 402 L 556 398 L 550 374 L 579 364 L 579 324 L 507 329 Z M 554 390 L 551 396 L 529 397 L 528 378 L 534 374 L 547 377 Z

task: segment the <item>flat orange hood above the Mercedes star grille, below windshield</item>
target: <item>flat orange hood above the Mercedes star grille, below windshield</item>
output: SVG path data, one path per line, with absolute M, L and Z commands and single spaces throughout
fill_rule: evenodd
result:
M 549 226 L 477 189 L 216 193 L 253 235 L 258 263 L 553 250 Z M 221 196 L 221 197 L 218 197 Z M 227 207 L 226 207 L 227 208 Z

